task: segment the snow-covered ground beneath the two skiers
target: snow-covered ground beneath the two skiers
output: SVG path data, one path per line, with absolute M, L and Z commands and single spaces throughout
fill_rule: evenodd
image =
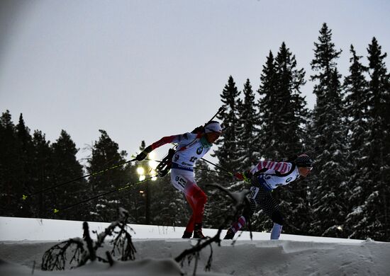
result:
M 89 223 L 90 231 L 107 226 Z M 82 236 L 82 222 L 0 217 L 0 275 L 192 275 L 194 260 L 183 267 L 174 261 L 196 243 L 180 238 L 182 227 L 131 227 L 135 261 L 45 272 L 40 270 L 43 253 L 58 241 Z M 205 229 L 204 234 L 213 236 L 216 229 Z M 201 251 L 196 275 L 390 275 L 390 243 L 371 240 L 282 234 L 279 241 L 269 241 L 268 233 L 254 233 L 250 241 L 244 233 L 234 246 L 231 241 L 222 241 L 221 247 L 213 244 L 211 272 L 204 272 L 209 254 L 209 248 Z

